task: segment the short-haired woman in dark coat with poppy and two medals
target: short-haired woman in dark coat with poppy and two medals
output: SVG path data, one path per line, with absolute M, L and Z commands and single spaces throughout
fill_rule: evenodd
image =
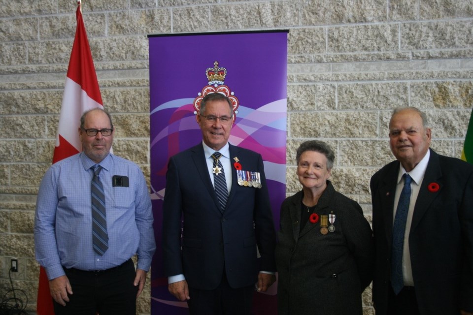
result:
M 277 234 L 278 314 L 361 315 L 374 264 L 370 224 L 328 180 L 329 145 L 306 141 L 296 159 L 302 190 L 282 203 Z

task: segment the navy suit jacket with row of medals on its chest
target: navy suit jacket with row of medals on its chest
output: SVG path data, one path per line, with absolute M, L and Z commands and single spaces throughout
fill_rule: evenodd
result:
M 166 276 L 184 274 L 190 287 L 215 289 L 223 272 L 231 287 L 249 286 L 256 283 L 260 270 L 275 271 L 275 231 L 263 159 L 233 145 L 230 156 L 239 159 L 242 170 L 259 172 L 262 188 L 239 186 L 232 166 L 232 189 L 223 213 L 203 145 L 169 159 L 163 203 L 164 269 Z

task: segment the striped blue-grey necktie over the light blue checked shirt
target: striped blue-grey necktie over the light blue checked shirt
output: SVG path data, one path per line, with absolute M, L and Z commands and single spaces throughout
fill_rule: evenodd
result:
M 94 251 L 103 255 L 108 249 L 107 219 L 105 215 L 105 194 L 99 178 L 100 165 L 94 166 L 92 178 L 92 245 Z

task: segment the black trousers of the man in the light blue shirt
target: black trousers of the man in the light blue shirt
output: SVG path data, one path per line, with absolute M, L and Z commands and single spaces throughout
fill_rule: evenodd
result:
M 55 315 L 135 315 L 136 293 L 133 285 L 135 266 L 130 259 L 104 271 L 66 269 L 72 287 L 66 306 L 54 304 Z

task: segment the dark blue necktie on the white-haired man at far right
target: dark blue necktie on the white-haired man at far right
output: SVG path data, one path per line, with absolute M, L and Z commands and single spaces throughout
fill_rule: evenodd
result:
M 412 178 L 404 174 L 404 187 L 399 196 L 398 208 L 394 217 L 393 226 L 393 248 L 391 257 L 391 284 L 396 295 L 404 287 L 403 278 L 403 249 L 404 249 L 404 231 L 405 221 L 407 221 L 407 212 L 410 201 L 410 182 Z

